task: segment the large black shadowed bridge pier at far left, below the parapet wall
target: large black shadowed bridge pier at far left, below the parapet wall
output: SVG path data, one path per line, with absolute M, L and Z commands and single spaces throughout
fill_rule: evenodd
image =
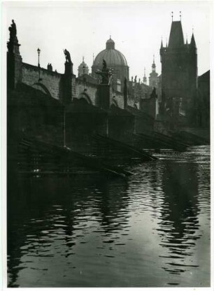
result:
M 9 90 L 7 122 L 8 146 L 24 135 L 62 146 L 62 104 L 41 90 L 22 83 Z

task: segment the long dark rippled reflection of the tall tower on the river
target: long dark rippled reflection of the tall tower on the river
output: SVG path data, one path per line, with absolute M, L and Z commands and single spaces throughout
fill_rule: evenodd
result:
M 199 239 L 196 164 L 167 162 L 162 187 L 164 206 L 160 211 L 157 230 L 162 236 L 160 245 L 167 249 L 166 257 L 171 258 L 167 264 L 173 266 L 163 269 L 172 274 L 178 274 L 185 270 L 178 267 L 175 269 L 175 266 L 184 266 L 183 258 L 186 255 L 192 255 L 194 241 Z M 176 259 L 176 263 L 171 262 L 172 259 Z

